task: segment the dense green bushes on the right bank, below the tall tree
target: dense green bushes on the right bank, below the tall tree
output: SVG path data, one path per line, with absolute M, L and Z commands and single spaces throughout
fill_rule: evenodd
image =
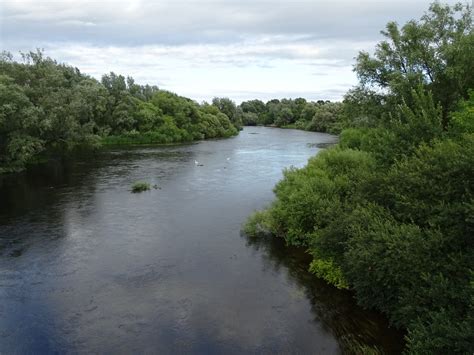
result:
M 407 351 L 468 353 L 474 94 L 446 130 L 430 94 L 413 95 L 425 106 L 402 107 L 405 122 L 345 130 L 286 170 L 245 231 L 306 248 L 311 273 L 407 329 Z

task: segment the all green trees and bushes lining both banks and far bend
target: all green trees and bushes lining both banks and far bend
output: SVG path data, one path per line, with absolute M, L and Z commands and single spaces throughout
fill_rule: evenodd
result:
M 474 351 L 474 32 L 471 9 L 434 3 L 390 22 L 343 102 L 198 104 L 130 77 L 99 82 L 43 57 L 0 57 L 0 173 L 102 144 L 229 137 L 242 125 L 341 133 L 290 168 L 251 236 L 307 248 L 310 272 L 407 330 L 407 352 Z M 133 192 L 149 190 L 137 182 Z

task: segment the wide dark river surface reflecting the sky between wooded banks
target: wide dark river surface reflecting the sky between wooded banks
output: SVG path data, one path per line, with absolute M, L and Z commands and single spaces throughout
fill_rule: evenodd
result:
M 3 178 L 0 353 L 332 354 L 354 339 L 399 352 L 301 251 L 240 233 L 282 169 L 333 140 L 246 128 Z M 137 180 L 160 189 L 132 194 Z

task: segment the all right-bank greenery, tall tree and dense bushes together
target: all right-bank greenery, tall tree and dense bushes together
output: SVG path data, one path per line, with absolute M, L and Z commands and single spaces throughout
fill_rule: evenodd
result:
M 407 353 L 472 354 L 471 11 L 434 3 L 382 33 L 338 108 L 339 145 L 286 170 L 245 231 L 306 247 L 312 273 L 407 329 Z

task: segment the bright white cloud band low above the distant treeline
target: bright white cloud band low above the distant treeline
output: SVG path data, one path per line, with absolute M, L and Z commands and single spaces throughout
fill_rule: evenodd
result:
M 355 84 L 350 61 L 327 56 L 348 43 L 331 48 L 324 43 L 293 43 L 291 37 L 276 42 L 265 37 L 240 44 L 102 47 L 72 43 L 45 49 L 96 78 L 114 71 L 197 101 L 214 96 L 236 101 L 285 96 L 339 99 Z M 325 75 L 315 80 L 315 72 Z

